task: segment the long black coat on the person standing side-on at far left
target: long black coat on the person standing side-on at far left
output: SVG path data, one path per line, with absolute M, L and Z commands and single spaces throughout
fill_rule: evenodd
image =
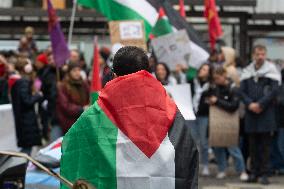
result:
M 42 100 L 39 94 L 32 95 L 32 82 L 19 79 L 11 90 L 12 107 L 19 147 L 41 145 L 41 134 L 35 113 L 35 104 Z

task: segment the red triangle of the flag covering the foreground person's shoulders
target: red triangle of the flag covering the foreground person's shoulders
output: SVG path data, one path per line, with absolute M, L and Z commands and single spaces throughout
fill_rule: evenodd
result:
M 98 104 L 148 158 L 160 147 L 177 111 L 164 87 L 146 71 L 109 82 Z

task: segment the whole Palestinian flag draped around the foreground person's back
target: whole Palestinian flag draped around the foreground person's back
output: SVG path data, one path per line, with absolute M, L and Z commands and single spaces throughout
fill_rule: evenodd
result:
M 146 71 L 107 83 L 64 137 L 62 153 L 62 176 L 97 189 L 198 187 L 190 128 Z

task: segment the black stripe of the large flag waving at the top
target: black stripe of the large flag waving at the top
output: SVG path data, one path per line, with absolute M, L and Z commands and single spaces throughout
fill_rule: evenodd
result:
M 168 0 L 159 0 L 162 4 L 170 23 L 178 30 L 186 29 L 191 41 L 200 46 L 204 50 L 207 50 L 205 44 L 202 42 L 201 37 L 195 31 L 195 29 L 181 17 L 181 15 L 172 7 L 172 4 Z

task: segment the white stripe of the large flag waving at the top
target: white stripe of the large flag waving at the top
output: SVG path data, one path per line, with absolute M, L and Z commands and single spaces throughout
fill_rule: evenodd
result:
M 149 22 L 151 26 L 154 26 L 158 19 L 157 10 L 146 0 L 114 0 L 121 5 L 128 7 L 139 15 L 141 15 L 145 20 Z

